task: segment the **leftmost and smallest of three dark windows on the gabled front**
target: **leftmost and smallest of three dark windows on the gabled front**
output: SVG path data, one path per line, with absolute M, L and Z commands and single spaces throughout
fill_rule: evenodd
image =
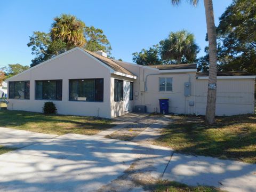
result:
M 29 99 L 29 81 L 9 82 L 9 99 Z

